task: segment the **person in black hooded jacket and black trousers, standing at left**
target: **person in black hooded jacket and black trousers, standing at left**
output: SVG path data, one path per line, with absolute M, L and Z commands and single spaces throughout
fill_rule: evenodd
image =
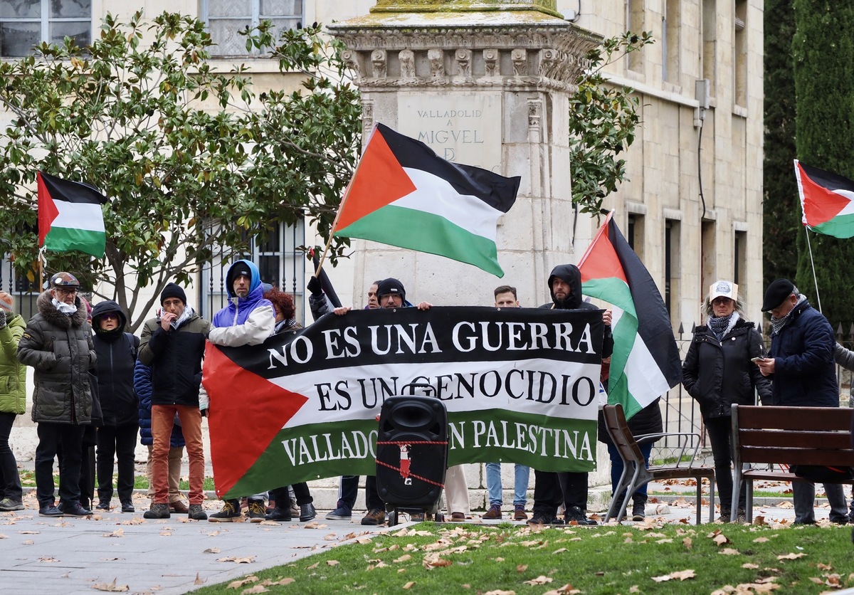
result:
M 116 487 L 122 512 L 133 512 L 134 451 L 137 447 L 137 395 L 133 366 L 139 338 L 125 332 L 127 317 L 113 300 L 92 308 L 93 343 L 98 356 L 98 396 L 103 423 L 97 433 L 98 505 L 109 510 L 113 498 L 113 459 L 118 461 Z

